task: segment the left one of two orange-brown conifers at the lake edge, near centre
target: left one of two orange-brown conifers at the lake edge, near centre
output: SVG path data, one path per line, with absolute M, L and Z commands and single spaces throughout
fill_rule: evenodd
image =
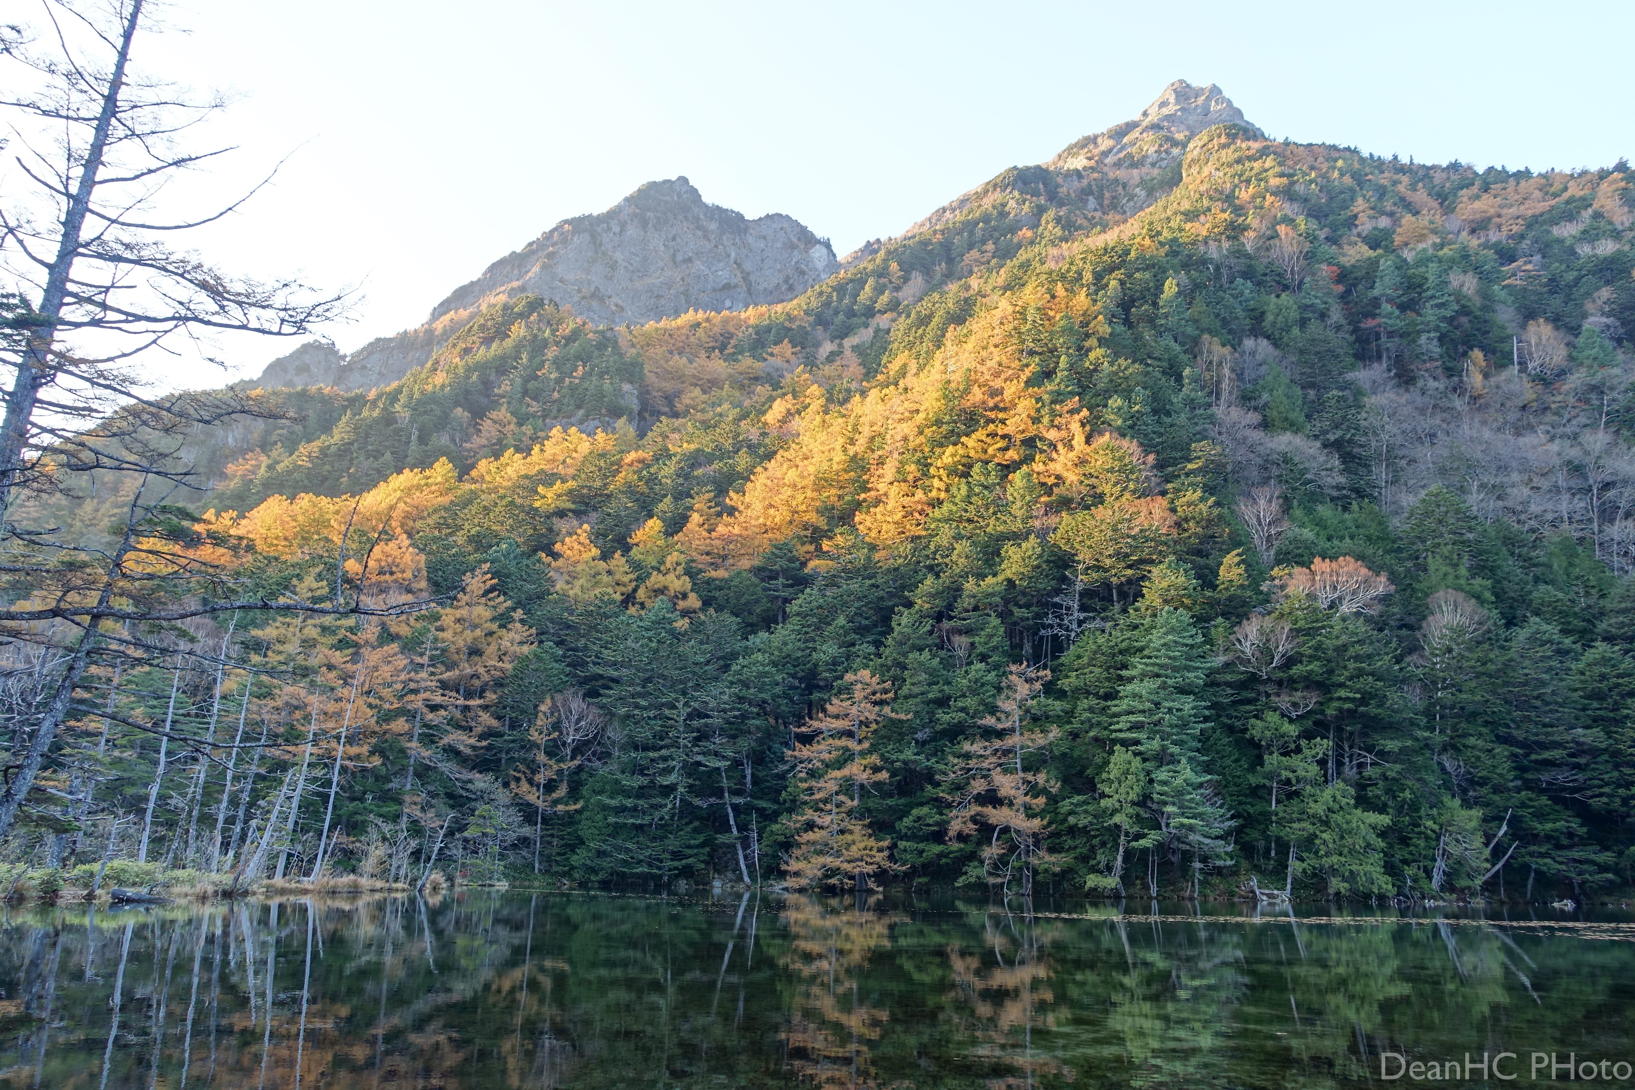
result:
M 891 711 L 891 683 L 868 670 L 847 673 L 821 714 L 806 721 L 793 760 L 800 809 L 790 817 L 795 851 L 786 871 L 801 889 L 855 884 L 893 869 L 891 842 L 876 837 L 860 812 L 863 791 L 886 783 L 886 771 L 870 739 Z

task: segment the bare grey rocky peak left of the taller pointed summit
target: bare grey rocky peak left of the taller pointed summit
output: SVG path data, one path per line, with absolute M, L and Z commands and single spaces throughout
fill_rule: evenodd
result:
M 348 356 L 312 342 L 257 386 L 370 389 L 427 363 L 487 304 L 536 294 L 598 325 L 785 302 L 839 270 L 834 250 L 780 212 L 747 219 L 706 204 L 687 178 L 649 181 L 605 212 L 564 219 L 432 309 L 425 325 Z

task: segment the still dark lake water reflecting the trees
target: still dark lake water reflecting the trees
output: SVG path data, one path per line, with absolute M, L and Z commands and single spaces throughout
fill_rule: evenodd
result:
M 1534 1051 L 1635 1062 L 1627 915 L 1146 909 L 461 891 L 11 910 L 0 1087 L 1293 1088 L 1483 1051 L 1519 1054 L 1491 1085 L 1540 1085 Z

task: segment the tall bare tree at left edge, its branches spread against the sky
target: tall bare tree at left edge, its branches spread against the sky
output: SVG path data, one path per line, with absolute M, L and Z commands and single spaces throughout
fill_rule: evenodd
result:
M 170 242 L 242 208 L 260 186 L 199 216 L 157 214 L 168 183 L 232 149 L 181 147 L 222 108 L 219 96 L 191 100 L 132 70 L 144 3 L 47 0 L 38 38 L 49 47 L 16 42 L 3 54 L 16 90 L 0 109 L 18 132 L 15 160 L 29 185 L 0 206 L 11 302 L 0 351 L 11 371 L 0 511 L 11 511 L 18 490 L 62 487 L 62 469 L 162 469 L 144 458 L 157 451 L 119 449 L 154 425 L 216 423 L 255 409 L 237 394 L 152 395 L 144 373 L 154 373 L 155 353 L 177 355 L 178 337 L 307 333 L 347 301 L 293 279 L 234 278 Z M 131 410 L 113 433 L 85 435 L 116 405 Z

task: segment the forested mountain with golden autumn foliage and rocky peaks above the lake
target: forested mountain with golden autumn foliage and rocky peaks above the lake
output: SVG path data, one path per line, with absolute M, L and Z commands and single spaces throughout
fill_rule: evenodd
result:
M 332 570 L 360 494 L 435 592 L 487 565 L 535 649 L 445 760 L 513 786 L 518 866 L 1583 899 L 1635 879 L 1625 175 L 1177 82 L 840 263 L 695 224 L 760 255 L 719 297 L 592 291 L 569 221 L 401 379 L 201 436 L 195 507 L 258 577 Z

